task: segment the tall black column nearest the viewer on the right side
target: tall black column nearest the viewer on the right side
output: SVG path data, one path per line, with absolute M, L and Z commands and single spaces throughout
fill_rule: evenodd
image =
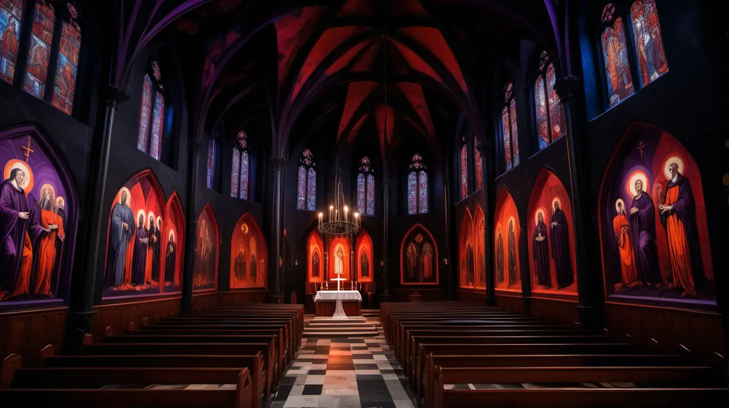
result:
M 561 99 L 564 109 L 564 123 L 567 138 L 569 159 L 569 178 L 572 185 L 572 212 L 574 213 L 574 252 L 577 259 L 577 293 L 582 330 L 596 332 L 598 313 L 596 313 L 599 281 L 596 270 L 590 270 L 588 264 L 588 246 L 590 237 L 586 227 L 590 224 L 588 191 L 585 188 L 585 165 L 582 162 L 582 144 L 580 123 L 575 107 L 575 93 L 579 90 L 580 80 L 576 76 L 565 76 L 557 81 L 555 90 Z

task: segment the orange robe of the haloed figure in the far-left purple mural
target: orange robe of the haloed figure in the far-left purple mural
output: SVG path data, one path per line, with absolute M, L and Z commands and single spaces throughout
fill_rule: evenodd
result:
M 36 270 L 33 285 L 34 294 L 51 295 L 50 278 L 55 266 L 55 240 L 58 238 L 63 241 L 66 238 L 66 232 L 63 231 L 63 219 L 57 211 L 58 206 L 52 211 L 45 209 L 41 211 L 41 224 L 46 228 L 46 233 L 41 236 L 38 244 L 36 244 L 38 269 Z

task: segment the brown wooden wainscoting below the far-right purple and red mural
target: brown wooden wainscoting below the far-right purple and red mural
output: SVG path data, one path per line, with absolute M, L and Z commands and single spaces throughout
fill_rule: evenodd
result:
M 645 351 L 726 356 L 722 317 L 717 313 L 607 302 L 605 326 L 616 340 Z

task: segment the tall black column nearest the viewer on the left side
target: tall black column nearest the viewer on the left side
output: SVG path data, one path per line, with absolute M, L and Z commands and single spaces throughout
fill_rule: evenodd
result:
M 114 130 L 114 114 L 119 110 L 121 103 L 129 99 L 124 90 L 114 85 L 103 85 L 99 88 L 101 97 L 101 108 L 104 116 L 99 122 L 101 133 L 95 136 L 93 152 L 95 160 L 92 162 L 92 175 L 90 178 L 89 195 L 86 208 L 89 214 L 88 224 L 85 232 L 85 243 L 87 249 L 84 256 L 83 268 L 81 270 L 81 281 L 74 279 L 74 285 L 78 291 L 74 291 L 71 297 L 69 313 L 69 325 L 66 335 L 69 342 L 66 342 L 69 350 L 77 350 L 82 344 L 85 334 L 91 329 L 91 318 L 93 317 L 93 304 L 96 291 L 96 275 L 103 274 L 103 256 L 99 256 L 106 243 L 106 237 L 102 234 L 104 218 L 107 212 L 103 211 L 104 196 L 106 195 L 106 178 L 109 173 L 109 154 L 112 149 L 112 132 Z M 80 286 L 80 287 L 79 287 Z

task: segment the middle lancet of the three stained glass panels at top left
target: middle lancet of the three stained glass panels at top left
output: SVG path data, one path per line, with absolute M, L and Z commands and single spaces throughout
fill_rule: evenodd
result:
M 31 43 L 28 45 L 28 64 L 23 79 L 23 89 L 40 99 L 45 96 L 53 26 L 55 26 L 55 10 L 50 4 L 38 1 L 31 29 Z

